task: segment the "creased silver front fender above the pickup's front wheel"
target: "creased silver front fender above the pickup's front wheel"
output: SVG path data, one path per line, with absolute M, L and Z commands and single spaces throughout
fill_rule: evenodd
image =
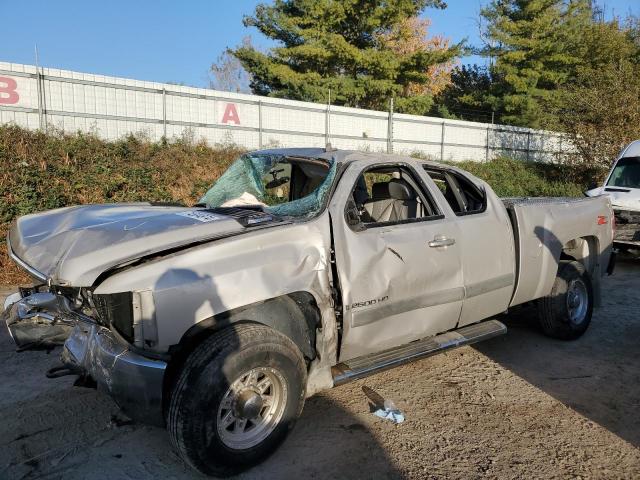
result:
M 183 250 L 107 278 L 96 294 L 151 290 L 157 346 L 165 352 L 193 325 L 215 315 L 298 291 L 311 293 L 321 312 L 319 355 L 308 394 L 332 385 L 337 325 L 331 305 L 329 215 L 248 232 Z

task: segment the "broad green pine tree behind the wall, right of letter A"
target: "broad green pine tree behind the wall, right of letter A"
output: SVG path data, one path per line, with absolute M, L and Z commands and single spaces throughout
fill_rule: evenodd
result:
M 395 96 L 400 111 L 426 113 L 433 68 L 451 62 L 461 46 L 437 44 L 401 52 L 390 35 L 426 7 L 442 0 L 276 0 L 258 5 L 245 26 L 277 42 L 268 53 L 251 47 L 233 51 L 251 74 L 259 95 L 386 109 Z M 433 44 L 431 44 L 433 45 Z

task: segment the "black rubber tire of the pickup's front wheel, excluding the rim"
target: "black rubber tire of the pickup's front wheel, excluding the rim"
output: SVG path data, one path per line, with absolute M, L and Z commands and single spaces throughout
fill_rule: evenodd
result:
M 235 391 L 231 386 L 242 385 L 244 389 L 243 379 L 247 384 L 250 379 L 243 375 L 260 369 L 273 372 L 275 381 L 284 385 L 286 393 L 280 397 L 284 399 L 278 407 L 280 414 L 269 417 L 279 420 L 270 424 L 272 430 L 266 438 L 255 437 L 259 443 L 248 448 L 229 446 L 228 437 L 235 434 L 236 428 L 244 435 L 243 427 L 232 423 L 230 431 L 226 430 L 222 427 L 225 422 L 218 420 L 220 412 L 232 411 L 240 419 L 237 410 L 224 410 L 230 402 L 229 392 Z M 256 465 L 282 443 L 300 416 L 306 376 L 300 350 L 289 338 L 269 327 L 240 324 L 215 333 L 187 357 L 171 391 L 167 428 L 175 449 L 183 460 L 206 475 L 229 476 Z M 253 395 L 250 391 L 248 394 Z M 240 396 L 235 398 L 233 405 L 242 403 L 238 400 Z M 270 407 L 260 405 L 259 408 L 270 411 Z M 255 428 L 251 421 L 248 425 Z

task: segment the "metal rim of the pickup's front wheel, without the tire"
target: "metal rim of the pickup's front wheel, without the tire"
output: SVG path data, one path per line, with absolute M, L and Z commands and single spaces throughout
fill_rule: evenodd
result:
M 280 372 L 258 367 L 240 375 L 222 397 L 217 429 L 222 443 L 235 450 L 258 445 L 278 426 L 287 404 Z

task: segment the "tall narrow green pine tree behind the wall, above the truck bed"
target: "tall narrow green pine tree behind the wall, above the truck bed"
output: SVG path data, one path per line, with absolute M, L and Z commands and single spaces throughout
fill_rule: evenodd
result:
M 589 0 L 493 0 L 481 10 L 495 60 L 492 98 L 502 121 L 534 128 L 552 122 L 547 106 L 585 57 L 581 36 L 592 20 Z

